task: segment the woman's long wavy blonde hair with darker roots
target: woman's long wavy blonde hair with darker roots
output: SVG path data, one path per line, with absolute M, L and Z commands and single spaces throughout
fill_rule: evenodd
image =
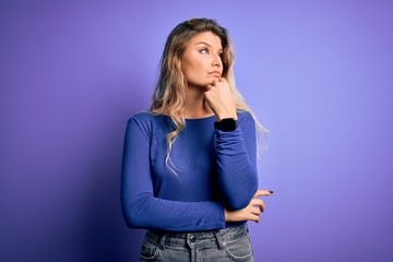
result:
M 235 76 L 233 66 L 235 62 L 235 55 L 233 50 L 231 40 L 226 28 L 218 25 L 215 20 L 210 19 L 191 19 L 177 25 L 169 34 L 164 52 L 160 59 L 160 70 L 157 84 L 155 86 L 151 111 L 157 114 L 166 114 L 170 117 L 175 124 L 175 130 L 167 134 L 168 151 L 166 156 L 166 164 L 168 160 L 172 143 L 177 135 L 186 127 L 182 110 L 186 103 L 187 80 L 181 72 L 181 58 L 187 45 L 191 38 L 202 32 L 212 32 L 217 35 L 223 46 L 223 78 L 229 84 L 230 91 L 236 102 L 236 109 L 245 110 L 251 114 L 255 121 L 255 127 L 259 133 L 266 133 L 267 130 L 263 128 L 250 107 L 246 104 L 241 94 L 237 91 L 235 85 Z M 206 111 L 211 111 L 207 103 L 204 104 Z

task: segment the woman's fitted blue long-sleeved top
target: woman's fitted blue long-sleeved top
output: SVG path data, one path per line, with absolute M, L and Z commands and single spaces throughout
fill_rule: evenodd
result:
M 170 118 L 152 112 L 130 118 L 121 175 L 129 227 L 201 231 L 234 226 L 225 222 L 224 206 L 246 207 L 258 189 L 255 123 L 249 112 L 238 112 L 235 131 L 215 130 L 214 121 L 215 116 L 186 119 L 166 162 L 166 135 L 175 130 Z

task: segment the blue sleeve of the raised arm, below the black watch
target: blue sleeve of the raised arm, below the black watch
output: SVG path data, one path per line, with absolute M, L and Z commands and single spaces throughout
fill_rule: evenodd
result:
M 216 131 L 218 182 L 228 210 L 246 207 L 258 190 L 255 135 L 250 114 L 239 118 L 235 131 Z

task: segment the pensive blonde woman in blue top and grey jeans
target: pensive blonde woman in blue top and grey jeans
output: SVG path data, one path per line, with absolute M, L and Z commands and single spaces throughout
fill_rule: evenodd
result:
M 126 131 L 121 200 L 131 228 L 148 229 L 141 261 L 253 261 L 259 222 L 255 121 L 235 88 L 233 47 L 207 19 L 166 41 L 151 111 Z M 263 131 L 263 130 L 262 130 Z

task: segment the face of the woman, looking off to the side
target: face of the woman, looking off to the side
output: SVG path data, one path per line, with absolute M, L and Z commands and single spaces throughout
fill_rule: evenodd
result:
M 212 32 L 194 35 L 181 58 L 181 71 L 189 88 L 206 87 L 223 74 L 223 46 Z

